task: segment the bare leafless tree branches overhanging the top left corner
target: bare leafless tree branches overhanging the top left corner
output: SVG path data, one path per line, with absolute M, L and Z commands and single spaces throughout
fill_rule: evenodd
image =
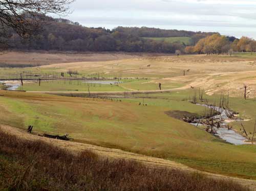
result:
M 42 30 L 46 14 L 65 16 L 75 0 L 0 0 L 0 42 L 7 43 L 13 32 L 26 38 Z

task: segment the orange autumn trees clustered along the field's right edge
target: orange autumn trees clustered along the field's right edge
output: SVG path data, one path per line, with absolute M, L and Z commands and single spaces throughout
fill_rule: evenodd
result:
M 187 46 L 185 52 L 188 54 L 230 54 L 233 52 L 256 52 L 256 41 L 243 36 L 235 37 L 214 34 L 200 39 L 195 46 Z

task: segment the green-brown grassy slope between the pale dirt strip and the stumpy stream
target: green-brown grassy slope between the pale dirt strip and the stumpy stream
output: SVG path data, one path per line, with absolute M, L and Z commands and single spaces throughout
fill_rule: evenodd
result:
M 169 99 L 145 99 L 147 106 L 139 106 L 142 99 L 117 102 L 2 91 L 0 118 L 2 124 L 19 128 L 33 124 L 35 134 L 68 133 L 80 142 L 176 160 L 208 172 L 256 179 L 253 146 L 226 144 L 164 113 L 184 110 L 203 114 L 203 107 L 182 101 L 189 93 L 160 94 Z

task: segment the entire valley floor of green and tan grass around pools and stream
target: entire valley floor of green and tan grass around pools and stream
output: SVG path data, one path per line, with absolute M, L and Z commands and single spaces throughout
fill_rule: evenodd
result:
M 247 120 L 243 124 L 251 133 L 256 116 L 256 57 L 253 55 L 165 55 L 0 68 L 0 76 L 20 73 L 59 76 L 64 72 L 67 77 L 67 71 L 72 69 L 78 71 L 77 77 L 116 78 L 123 82 L 119 86 L 90 84 L 90 91 L 159 90 L 158 83 L 162 89 L 170 89 L 126 99 L 0 91 L 1 124 L 23 129 L 33 125 L 35 134 L 68 133 L 78 142 L 174 160 L 207 172 L 256 179 L 255 146 L 227 144 L 202 128 L 165 114 L 179 110 L 203 115 L 204 107 L 188 101 L 196 89 L 204 89 L 210 103 L 218 102 L 220 93 L 229 91 L 231 109 Z M 243 100 L 244 84 L 248 86 L 247 100 Z M 40 86 L 25 83 L 20 89 L 79 92 L 88 91 L 88 84 L 42 81 Z M 238 122 L 230 125 L 242 134 Z

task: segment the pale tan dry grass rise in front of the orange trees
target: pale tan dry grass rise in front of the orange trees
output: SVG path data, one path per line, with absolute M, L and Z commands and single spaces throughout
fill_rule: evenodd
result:
M 253 58 L 237 58 L 223 56 L 187 55 L 187 56 L 145 56 L 141 58 L 129 58 L 108 62 L 70 62 L 64 64 L 53 64 L 44 68 L 57 68 L 59 71 L 67 69 L 78 69 L 79 71 L 104 73 L 122 73 L 123 75 L 155 75 L 163 76 L 183 76 L 194 74 L 212 74 L 234 71 L 256 70 L 256 65 L 251 64 Z M 148 67 L 147 65 L 151 66 Z

